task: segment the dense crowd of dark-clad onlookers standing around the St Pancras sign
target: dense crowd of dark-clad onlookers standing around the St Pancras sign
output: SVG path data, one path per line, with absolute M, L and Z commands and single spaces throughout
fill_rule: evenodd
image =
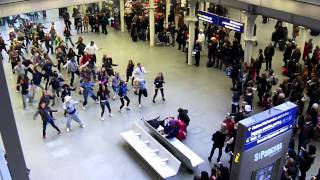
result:
M 281 30 L 279 31 L 281 27 L 281 23 L 278 22 L 277 33 L 282 33 Z M 213 146 L 208 160 L 211 162 L 215 149 L 219 149 L 217 162 L 220 163 L 223 148 L 225 148 L 225 153 L 230 156 L 231 168 L 237 124 L 251 116 L 255 107 L 254 97 L 257 94 L 259 107 L 257 111 L 267 110 L 286 101 L 298 105 L 296 124 L 281 179 L 291 180 L 298 177 L 305 179 L 306 172 L 314 163 L 316 154 L 316 146 L 311 142 L 320 137 L 319 47 L 313 48 L 312 39 L 310 39 L 305 43 L 304 52 L 301 53 L 300 47 L 294 40 L 287 39 L 283 49 L 283 69 L 286 71 L 283 74 L 286 77 L 283 82 L 278 83 L 278 76 L 272 70 L 276 44 L 269 43 L 264 50 L 259 49 L 257 58 L 252 58 L 247 63 L 243 60 L 243 50 L 237 37 L 235 36 L 230 43 L 225 33 L 223 29 L 218 29 L 213 31 L 211 38 L 210 35 L 207 36 L 209 62 L 214 62 L 215 67 L 223 67 L 226 75 L 232 79 L 231 112 L 223 120 L 221 128 L 212 136 Z M 283 40 L 283 37 L 277 40 Z M 224 66 L 220 66 L 221 62 Z M 263 64 L 265 64 L 265 71 L 261 71 Z M 204 176 L 207 174 L 204 173 Z

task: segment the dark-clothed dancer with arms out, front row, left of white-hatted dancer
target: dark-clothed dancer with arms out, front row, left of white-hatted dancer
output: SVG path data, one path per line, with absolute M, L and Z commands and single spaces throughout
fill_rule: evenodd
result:
M 50 107 L 45 102 L 40 102 L 38 111 L 33 116 L 34 120 L 36 119 L 38 114 L 40 114 L 40 116 L 41 116 L 43 140 L 46 140 L 46 129 L 47 129 L 48 123 L 51 124 L 51 126 L 58 131 L 59 135 L 61 134 L 60 129 L 54 124 L 53 118 L 49 114 L 50 112 L 57 112 L 57 111 L 50 109 Z

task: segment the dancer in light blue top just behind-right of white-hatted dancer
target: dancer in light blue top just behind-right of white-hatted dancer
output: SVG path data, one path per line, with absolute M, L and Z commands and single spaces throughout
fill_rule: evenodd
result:
M 99 103 L 97 101 L 97 96 L 93 93 L 93 87 L 95 84 L 89 79 L 84 79 L 84 81 L 80 84 L 80 90 L 83 95 L 83 103 L 82 103 L 82 109 L 86 110 L 86 105 L 88 104 L 88 97 L 91 97 L 96 103 Z

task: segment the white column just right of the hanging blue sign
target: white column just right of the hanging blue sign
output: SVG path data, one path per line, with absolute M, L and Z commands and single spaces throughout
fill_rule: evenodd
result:
M 246 24 L 245 24 L 245 32 L 244 32 L 244 44 L 245 44 L 245 49 L 244 49 L 244 62 L 250 62 L 251 57 L 252 57 L 252 48 L 253 44 L 255 42 L 255 37 L 253 36 L 254 32 L 254 25 L 257 16 L 253 14 L 246 14 Z

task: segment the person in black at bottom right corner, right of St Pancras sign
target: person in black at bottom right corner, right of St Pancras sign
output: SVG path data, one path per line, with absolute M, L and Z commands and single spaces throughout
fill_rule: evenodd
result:
M 300 180 L 305 180 L 306 173 L 314 162 L 316 151 L 317 148 L 313 144 L 310 144 L 308 152 L 303 150 L 299 155 Z

